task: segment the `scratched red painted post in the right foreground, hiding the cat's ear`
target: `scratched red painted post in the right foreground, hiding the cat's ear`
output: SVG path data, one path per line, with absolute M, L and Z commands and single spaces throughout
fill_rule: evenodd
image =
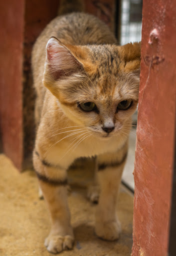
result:
M 166 256 L 174 151 L 176 4 L 143 0 L 131 256 Z

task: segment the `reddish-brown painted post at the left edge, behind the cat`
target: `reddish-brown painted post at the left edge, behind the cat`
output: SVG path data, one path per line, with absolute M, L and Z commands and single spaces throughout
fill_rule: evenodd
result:
M 0 135 L 4 153 L 20 168 L 24 0 L 0 1 Z

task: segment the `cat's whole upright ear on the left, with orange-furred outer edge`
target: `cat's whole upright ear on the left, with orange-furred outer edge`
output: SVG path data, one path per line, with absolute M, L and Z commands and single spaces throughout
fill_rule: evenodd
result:
M 83 66 L 74 53 L 58 39 L 51 37 L 46 45 L 43 84 L 55 95 L 56 84 L 58 89 L 59 84 L 79 81 L 82 76 Z

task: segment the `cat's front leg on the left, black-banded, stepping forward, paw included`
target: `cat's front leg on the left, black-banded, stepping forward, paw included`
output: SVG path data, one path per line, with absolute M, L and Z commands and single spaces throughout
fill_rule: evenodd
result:
M 44 245 L 52 253 L 71 249 L 74 237 L 67 203 L 66 169 L 41 160 L 38 152 L 34 152 L 33 164 L 51 217 L 51 230 Z

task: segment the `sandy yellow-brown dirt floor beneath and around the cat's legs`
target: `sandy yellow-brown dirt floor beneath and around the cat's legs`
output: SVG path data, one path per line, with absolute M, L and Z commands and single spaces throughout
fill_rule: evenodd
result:
M 89 167 L 88 167 L 89 168 Z M 85 175 L 82 175 L 84 173 Z M 122 232 L 118 241 L 103 241 L 94 234 L 96 205 L 86 199 L 88 171 L 69 171 L 71 192 L 68 202 L 75 243 L 63 256 L 129 256 L 132 246 L 133 197 L 121 186 L 117 213 Z M 18 173 L 11 161 L 0 154 L 0 256 L 48 256 L 44 238 L 49 232 L 44 200 L 38 199 L 34 171 Z

